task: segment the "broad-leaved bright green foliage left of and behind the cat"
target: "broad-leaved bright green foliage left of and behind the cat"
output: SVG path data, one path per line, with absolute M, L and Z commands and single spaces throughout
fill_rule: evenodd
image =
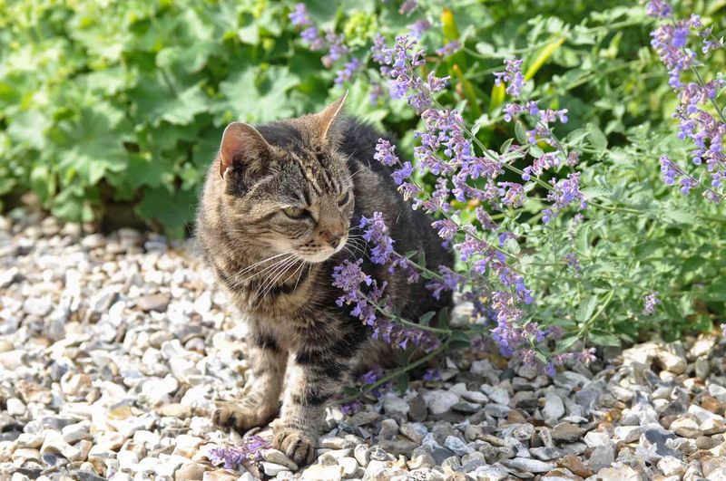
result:
M 265 1 L 0 3 L 0 196 L 32 190 L 74 221 L 123 201 L 182 236 L 228 121 L 299 115 L 327 96 L 288 13 Z

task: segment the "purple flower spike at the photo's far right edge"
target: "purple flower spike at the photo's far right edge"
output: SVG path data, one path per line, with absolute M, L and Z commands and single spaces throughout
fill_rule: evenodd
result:
M 669 73 L 669 85 L 678 94 L 679 105 L 673 118 L 679 121 L 679 139 L 690 139 L 693 143 L 692 164 L 705 164 L 711 177 L 710 186 L 702 184 L 696 176 L 689 175 L 671 159 L 661 158 L 663 181 L 673 186 L 676 180 L 682 194 L 688 195 L 693 188 L 701 185 L 703 195 L 712 202 L 720 202 L 723 177 L 726 172 L 726 156 L 723 153 L 722 139 L 726 135 L 726 119 L 716 103 L 718 91 L 726 81 L 715 78 L 704 82 L 696 70 L 700 66 L 697 54 L 689 47 L 692 34 L 701 37 L 701 53 L 723 47 L 720 40 L 713 37 L 711 27 L 706 28 L 701 17 L 692 14 L 688 19 L 676 19 L 672 7 L 664 0 L 652 0 L 647 12 L 665 21 L 651 33 L 652 48 Z M 692 81 L 685 80 L 686 72 L 692 73 Z

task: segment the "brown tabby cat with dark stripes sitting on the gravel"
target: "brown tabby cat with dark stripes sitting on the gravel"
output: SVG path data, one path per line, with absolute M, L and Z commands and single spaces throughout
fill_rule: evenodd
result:
M 243 433 L 280 411 L 272 445 L 300 466 L 314 457 L 329 401 L 363 367 L 392 358 L 392 348 L 338 306 L 342 292 L 331 284 L 333 267 L 354 260 L 361 216 L 381 212 L 397 252 L 424 252 L 432 268 L 452 265 L 432 219 L 411 209 L 390 169 L 373 159 L 382 136 L 342 115 L 344 101 L 257 128 L 232 122 L 197 215 L 204 260 L 249 325 L 254 376 L 243 399 L 218 403 L 213 420 Z M 362 266 L 388 282 L 386 293 L 409 319 L 451 303 L 450 295 L 433 299 L 425 281 L 408 284 L 368 260 Z

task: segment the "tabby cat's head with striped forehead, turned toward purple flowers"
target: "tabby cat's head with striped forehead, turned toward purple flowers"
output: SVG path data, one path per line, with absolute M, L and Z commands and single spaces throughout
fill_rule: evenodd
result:
M 343 101 L 257 129 L 233 122 L 224 130 L 214 167 L 226 230 L 308 262 L 343 248 L 355 202 L 347 159 L 336 148 Z

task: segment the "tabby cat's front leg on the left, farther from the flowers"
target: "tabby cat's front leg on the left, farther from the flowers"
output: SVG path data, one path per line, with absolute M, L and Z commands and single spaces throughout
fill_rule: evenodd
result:
M 268 334 L 251 332 L 249 344 L 254 376 L 249 391 L 240 400 L 218 403 L 213 415 L 218 426 L 235 428 L 240 433 L 264 426 L 278 414 L 288 359 L 287 351 Z

